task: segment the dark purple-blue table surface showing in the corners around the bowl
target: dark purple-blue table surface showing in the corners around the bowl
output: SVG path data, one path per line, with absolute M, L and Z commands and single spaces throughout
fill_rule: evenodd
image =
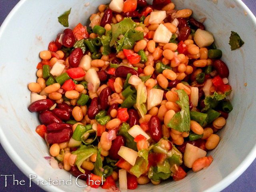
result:
M 256 15 L 256 0 L 242 0 L 248 8 Z M 19 0 L 0 0 L 0 25 Z M 24 180 L 29 183 L 29 179 L 19 168 L 12 162 L 0 144 L 0 175 L 15 175 L 15 180 Z M 10 178 L 10 177 L 9 177 Z M 44 192 L 36 184 L 29 185 L 13 185 L 12 181 L 7 183 L 5 187 L 5 176 L 0 176 L 0 192 Z M 230 186 L 222 192 L 255 192 L 256 191 L 256 160 L 248 167 L 248 169 L 236 179 Z

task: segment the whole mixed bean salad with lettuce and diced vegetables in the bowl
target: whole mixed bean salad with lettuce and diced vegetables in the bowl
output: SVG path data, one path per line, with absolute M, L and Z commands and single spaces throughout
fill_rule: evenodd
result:
M 171 0 L 112 0 L 98 10 L 40 52 L 28 85 L 51 165 L 117 191 L 118 180 L 135 189 L 210 166 L 206 152 L 232 110 L 213 35 Z

